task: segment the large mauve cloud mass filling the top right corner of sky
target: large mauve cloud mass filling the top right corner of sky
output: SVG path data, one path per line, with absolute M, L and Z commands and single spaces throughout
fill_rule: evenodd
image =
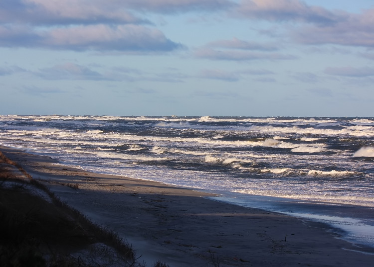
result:
M 373 8 L 349 13 L 301 0 L 241 0 L 230 12 L 245 19 L 297 22 L 285 29 L 302 44 L 374 47 Z

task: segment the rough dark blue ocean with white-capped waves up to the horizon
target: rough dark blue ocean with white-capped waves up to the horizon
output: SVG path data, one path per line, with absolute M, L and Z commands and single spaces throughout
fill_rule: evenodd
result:
M 374 118 L 0 115 L 0 144 L 328 223 L 374 247 Z

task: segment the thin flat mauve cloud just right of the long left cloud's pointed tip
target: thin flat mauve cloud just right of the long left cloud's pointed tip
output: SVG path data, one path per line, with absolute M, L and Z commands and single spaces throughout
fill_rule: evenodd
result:
M 238 50 L 215 50 L 211 48 L 199 48 L 194 51 L 194 56 L 211 60 L 232 60 L 232 61 L 251 61 L 251 60 L 292 60 L 296 59 L 293 55 L 281 53 L 261 53 L 252 51 Z

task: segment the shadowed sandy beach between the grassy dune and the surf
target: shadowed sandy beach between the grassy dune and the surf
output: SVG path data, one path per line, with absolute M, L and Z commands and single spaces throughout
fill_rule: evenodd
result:
M 147 266 L 157 261 L 170 267 L 374 263 L 374 248 L 350 244 L 324 224 L 211 200 L 212 194 L 188 188 L 90 173 L 48 157 L 0 150 L 61 200 L 116 231 Z

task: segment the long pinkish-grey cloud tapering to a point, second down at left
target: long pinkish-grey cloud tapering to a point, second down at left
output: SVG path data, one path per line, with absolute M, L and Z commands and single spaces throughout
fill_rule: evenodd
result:
M 27 26 L 0 26 L 0 45 L 94 51 L 171 51 L 180 48 L 158 29 L 141 25 L 105 24 L 31 29 Z

